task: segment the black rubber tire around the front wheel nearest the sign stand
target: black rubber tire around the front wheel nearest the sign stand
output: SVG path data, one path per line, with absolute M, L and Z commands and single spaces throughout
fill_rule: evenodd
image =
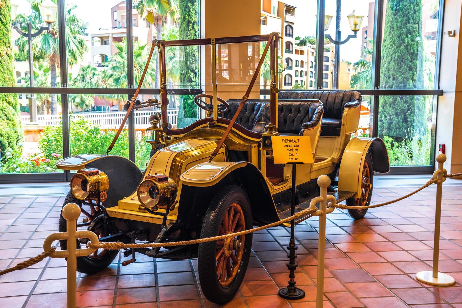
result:
M 221 188 L 210 202 L 202 224 L 201 238 L 218 236 L 219 226 L 223 220 L 225 211 L 227 211 L 228 207 L 236 201 L 242 205 L 245 216 L 245 229 L 252 228 L 252 211 L 247 194 L 241 187 L 229 185 Z M 199 279 L 201 281 L 202 292 L 206 296 L 207 300 L 217 304 L 224 304 L 231 301 L 231 299 L 236 295 L 243 281 L 252 249 L 252 233 L 245 237 L 243 248 L 244 252 L 239 270 L 234 280 L 226 288 L 219 283 L 217 277 L 217 265 L 215 260 L 216 247 L 216 242 L 199 244 Z

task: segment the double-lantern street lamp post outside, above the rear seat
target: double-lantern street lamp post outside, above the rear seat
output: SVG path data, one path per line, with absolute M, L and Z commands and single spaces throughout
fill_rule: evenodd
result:
M 332 15 L 324 15 L 324 31 L 329 29 L 330 22 L 332 21 Z M 357 38 L 357 33 L 359 29 L 361 29 L 361 24 L 363 23 L 364 16 L 356 15 L 356 10 L 354 10 L 350 15 L 347 16 L 348 22 L 350 23 L 350 28 L 354 34 L 350 34 L 344 39 L 340 41 L 340 30 L 335 31 L 335 39 L 333 39 L 329 34 L 325 34 L 324 36 L 328 38 L 328 40 L 335 45 L 335 57 L 334 57 L 334 80 L 335 80 L 335 88 L 339 88 L 339 70 L 340 70 L 340 45 L 345 44 L 350 40 L 350 38 Z

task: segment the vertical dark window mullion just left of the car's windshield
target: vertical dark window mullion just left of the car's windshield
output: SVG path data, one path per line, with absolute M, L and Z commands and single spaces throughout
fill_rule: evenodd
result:
M 128 0 L 127 6 L 127 86 L 134 88 L 134 57 L 133 57 L 133 2 Z M 133 95 L 128 95 L 131 100 Z M 135 114 L 131 112 L 128 116 L 128 159 L 135 162 Z

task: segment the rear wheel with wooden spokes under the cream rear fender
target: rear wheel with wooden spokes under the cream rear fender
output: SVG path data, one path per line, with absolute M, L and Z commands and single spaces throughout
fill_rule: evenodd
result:
M 346 199 L 346 205 L 352 206 L 367 206 L 371 204 L 372 185 L 374 183 L 374 170 L 372 170 L 372 157 L 368 153 L 364 161 L 363 170 L 361 173 L 361 197 Z M 348 214 L 354 219 L 361 219 L 366 215 L 367 209 L 357 210 L 348 209 Z

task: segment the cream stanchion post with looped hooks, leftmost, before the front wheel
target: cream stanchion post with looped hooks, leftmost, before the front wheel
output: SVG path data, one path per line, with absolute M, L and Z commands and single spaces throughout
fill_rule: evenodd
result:
M 80 216 L 80 207 L 75 203 L 68 203 L 62 208 L 62 217 L 66 219 L 66 232 L 49 235 L 43 242 L 43 251 L 49 251 L 55 241 L 66 240 L 67 250 L 55 251 L 51 258 L 67 258 L 67 308 L 77 307 L 77 257 L 87 256 L 95 252 L 94 248 L 76 248 L 78 238 L 88 238 L 92 243 L 98 244 L 98 236 L 91 231 L 77 231 L 77 219 Z M 69 239 L 71 240 L 69 242 Z

